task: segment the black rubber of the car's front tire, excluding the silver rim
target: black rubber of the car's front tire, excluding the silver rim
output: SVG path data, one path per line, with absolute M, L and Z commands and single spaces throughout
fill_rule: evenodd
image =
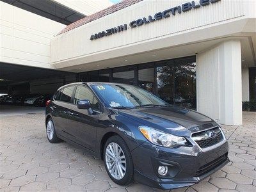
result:
M 125 160 L 126 160 L 126 171 L 125 171 L 125 175 L 122 179 L 117 180 L 114 177 L 112 177 L 112 175 L 109 173 L 108 171 L 108 167 L 106 164 L 106 147 L 108 146 L 109 143 L 117 143 L 123 150 L 124 155 L 125 155 Z M 132 157 L 131 157 L 131 152 L 127 146 L 127 144 L 125 143 L 125 141 L 120 137 L 120 136 L 111 136 L 111 138 L 109 138 L 104 146 L 104 154 L 103 154 L 103 158 L 104 158 L 104 164 L 105 164 L 105 168 L 106 168 L 106 172 L 108 173 L 109 177 L 116 183 L 119 185 L 127 185 L 130 184 L 133 180 L 133 163 L 132 163 Z

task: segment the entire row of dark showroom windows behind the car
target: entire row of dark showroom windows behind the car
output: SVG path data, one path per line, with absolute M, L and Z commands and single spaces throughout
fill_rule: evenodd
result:
M 170 104 L 196 109 L 195 56 L 86 72 L 84 79 L 134 84 Z

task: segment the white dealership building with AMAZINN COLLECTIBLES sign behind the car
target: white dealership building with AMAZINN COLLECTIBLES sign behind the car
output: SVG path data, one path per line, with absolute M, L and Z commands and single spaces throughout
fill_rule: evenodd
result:
M 72 6 L 71 24 L 0 3 L 2 92 L 134 84 L 226 125 L 243 124 L 242 102 L 256 100 L 255 1 L 127 0 L 90 14 Z

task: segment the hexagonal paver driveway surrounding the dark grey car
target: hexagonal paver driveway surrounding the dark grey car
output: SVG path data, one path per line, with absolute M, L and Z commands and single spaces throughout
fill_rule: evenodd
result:
M 232 162 L 200 184 L 172 191 L 256 191 L 256 113 L 243 126 L 225 126 Z M 118 186 L 103 161 L 66 142 L 47 141 L 44 114 L 1 116 L 0 191 L 156 191 L 142 184 Z M 229 189 L 229 190 L 228 190 Z

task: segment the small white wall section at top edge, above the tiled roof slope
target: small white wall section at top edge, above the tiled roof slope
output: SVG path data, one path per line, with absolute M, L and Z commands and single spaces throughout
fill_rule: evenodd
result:
M 83 15 L 92 15 L 108 6 L 113 5 L 108 0 L 52 0 L 56 3 L 67 6 L 68 8 L 82 13 Z

